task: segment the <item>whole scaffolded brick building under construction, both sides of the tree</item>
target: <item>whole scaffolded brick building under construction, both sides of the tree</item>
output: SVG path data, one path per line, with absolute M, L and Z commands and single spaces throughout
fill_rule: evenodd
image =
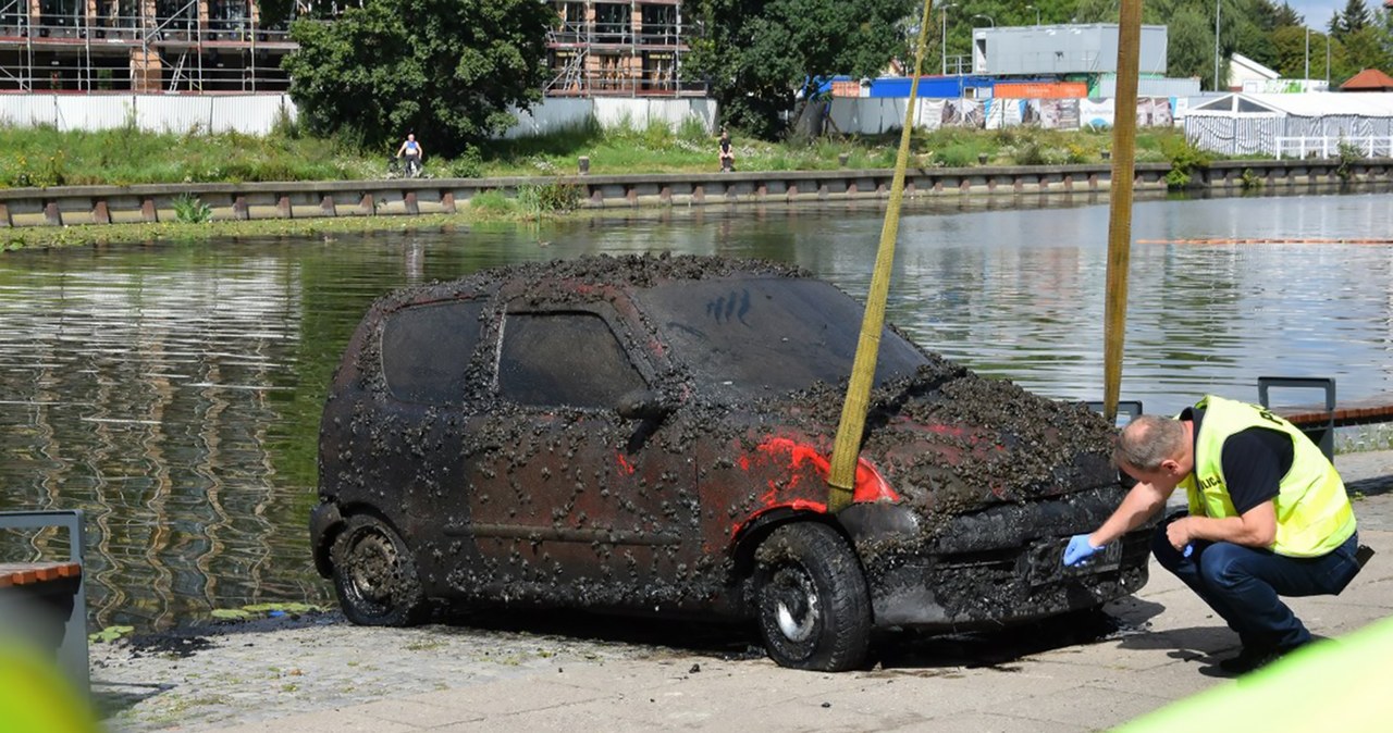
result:
M 552 4 L 547 95 L 705 90 L 680 78 L 681 0 Z M 0 0 L 0 92 L 284 92 L 288 22 L 332 22 L 343 6 L 276 7 L 290 17 L 267 17 L 258 0 Z

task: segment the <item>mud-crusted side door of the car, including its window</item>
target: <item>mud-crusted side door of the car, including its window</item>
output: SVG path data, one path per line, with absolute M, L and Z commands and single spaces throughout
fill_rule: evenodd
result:
M 678 595 L 695 466 L 676 420 L 617 409 L 659 396 L 637 328 L 613 299 L 529 296 L 503 314 L 499 406 L 475 426 L 497 459 L 468 501 L 478 552 L 508 597 L 652 609 Z

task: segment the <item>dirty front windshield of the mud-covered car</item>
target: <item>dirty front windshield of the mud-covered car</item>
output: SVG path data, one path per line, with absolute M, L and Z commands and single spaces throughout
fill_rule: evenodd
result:
M 664 282 L 635 295 L 698 385 L 724 399 L 846 380 L 865 310 L 827 282 L 784 277 Z M 912 374 L 925 362 L 886 328 L 876 384 Z

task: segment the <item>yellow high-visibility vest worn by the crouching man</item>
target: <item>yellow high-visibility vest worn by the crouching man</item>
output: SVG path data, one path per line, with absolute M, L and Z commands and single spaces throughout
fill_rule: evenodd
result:
M 1223 442 L 1250 427 L 1265 427 L 1290 435 L 1294 448 L 1291 469 L 1277 484 L 1273 502 L 1277 537 L 1270 549 L 1291 558 L 1315 558 L 1354 534 L 1354 509 L 1344 481 L 1301 430 L 1263 408 L 1215 395 L 1205 395 L 1195 409 L 1205 410 L 1195 437 L 1195 472 L 1180 483 L 1190 498 L 1191 515 L 1238 516 L 1223 476 Z

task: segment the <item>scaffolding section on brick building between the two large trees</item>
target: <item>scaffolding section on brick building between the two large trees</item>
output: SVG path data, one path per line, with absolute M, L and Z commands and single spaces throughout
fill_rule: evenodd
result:
M 681 0 L 554 1 L 547 96 L 701 96 L 681 79 Z

